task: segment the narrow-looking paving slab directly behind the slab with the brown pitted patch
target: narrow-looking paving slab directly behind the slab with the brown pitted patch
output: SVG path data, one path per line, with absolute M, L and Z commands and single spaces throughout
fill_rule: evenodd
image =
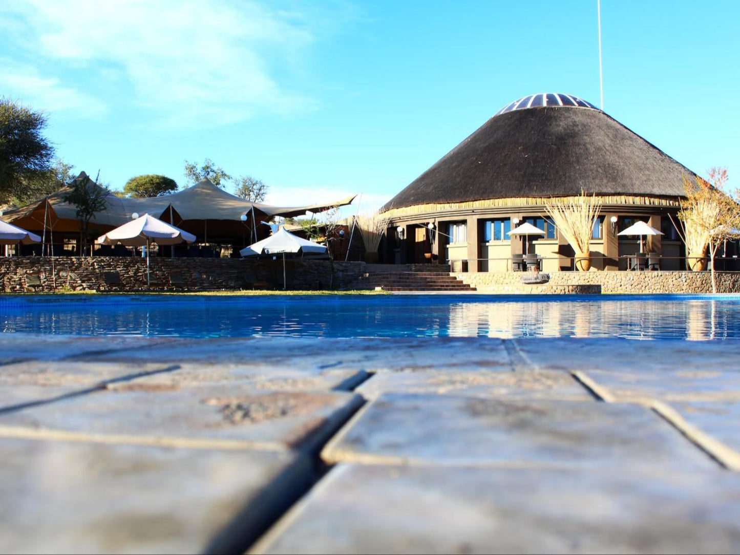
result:
M 321 369 L 317 366 L 283 366 L 273 361 L 233 364 L 178 363 L 175 371 L 160 372 L 134 380 L 135 384 L 184 388 L 229 383 L 271 391 L 349 391 L 367 379 L 363 370 Z M 113 384 L 111 388 L 129 386 Z

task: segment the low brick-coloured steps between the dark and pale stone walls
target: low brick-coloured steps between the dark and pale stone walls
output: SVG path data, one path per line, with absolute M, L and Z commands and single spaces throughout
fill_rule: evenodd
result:
M 403 268 L 403 266 L 401 266 Z M 435 269 L 431 272 L 372 271 L 362 275 L 348 289 L 383 289 L 383 291 L 420 291 L 460 293 L 475 291 L 457 277 Z

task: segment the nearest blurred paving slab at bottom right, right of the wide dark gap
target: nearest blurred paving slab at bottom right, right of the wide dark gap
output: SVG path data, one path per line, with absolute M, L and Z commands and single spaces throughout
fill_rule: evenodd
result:
M 740 475 L 340 465 L 253 554 L 740 551 Z

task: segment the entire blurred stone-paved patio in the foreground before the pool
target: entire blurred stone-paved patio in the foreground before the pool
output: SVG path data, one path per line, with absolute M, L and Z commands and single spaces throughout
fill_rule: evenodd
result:
M 0 364 L 6 552 L 740 548 L 731 341 L 4 334 Z

